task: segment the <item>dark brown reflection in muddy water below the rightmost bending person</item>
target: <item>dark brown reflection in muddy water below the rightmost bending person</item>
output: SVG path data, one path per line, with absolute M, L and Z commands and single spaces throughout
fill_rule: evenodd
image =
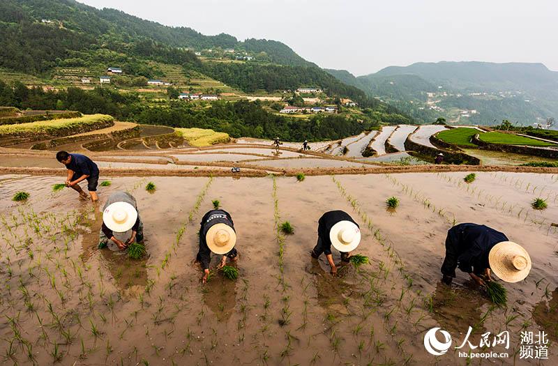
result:
M 432 317 L 443 329 L 450 332 L 467 333 L 473 327 L 473 335 L 485 333 L 483 317 L 486 312 L 481 310 L 489 301 L 471 283 L 468 287 L 450 287 L 438 282 L 432 293 Z

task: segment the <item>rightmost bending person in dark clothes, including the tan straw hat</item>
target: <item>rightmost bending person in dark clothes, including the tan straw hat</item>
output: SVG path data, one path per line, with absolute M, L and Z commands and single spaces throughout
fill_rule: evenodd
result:
M 458 224 L 448 230 L 442 282 L 451 284 L 455 268 L 469 273 L 479 286 L 492 281 L 492 270 L 505 282 L 519 282 L 531 270 L 531 258 L 521 245 L 499 231 L 479 224 Z

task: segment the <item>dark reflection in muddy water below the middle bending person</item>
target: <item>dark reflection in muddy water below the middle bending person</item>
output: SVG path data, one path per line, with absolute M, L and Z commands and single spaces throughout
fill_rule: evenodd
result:
M 218 321 L 228 320 L 236 306 L 236 281 L 229 280 L 218 270 L 202 291 L 205 305 L 216 314 Z

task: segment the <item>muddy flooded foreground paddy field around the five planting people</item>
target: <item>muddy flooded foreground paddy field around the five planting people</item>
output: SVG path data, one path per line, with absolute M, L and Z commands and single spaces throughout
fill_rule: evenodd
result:
M 291 161 L 302 159 L 291 159 Z M 268 162 L 280 161 L 269 160 Z M 287 160 L 284 160 L 287 161 Z M 101 171 L 101 174 L 102 171 Z M 549 360 L 558 356 L 558 176 L 465 172 L 265 178 L 105 177 L 100 202 L 72 190 L 52 192 L 61 176 L 0 176 L 0 344 L 6 364 L 48 365 L 485 365 L 450 349 L 431 356 L 433 327 L 460 344 L 507 330 L 509 358 L 522 360 L 520 332 L 545 330 Z M 148 181 L 156 192 L 146 192 Z M 24 202 L 15 192 L 30 193 Z M 137 199 L 147 256 L 99 250 L 100 209 L 111 192 Z M 400 205 L 386 211 L 385 200 Z M 548 200 L 534 210 L 534 197 Z M 218 199 L 238 235 L 239 279 L 215 269 L 201 284 L 193 264 L 199 220 Z M 317 220 L 333 209 L 359 223 L 368 256 L 358 270 L 329 274 L 316 243 Z M 288 220 L 294 234 L 278 224 Z M 529 251 L 529 277 L 504 284 L 495 307 L 458 271 L 442 284 L 446 231 L 459 222 L 487 224 Z M 501 282 L 502 283 L 502 282 Z M 502 346 L 494 350 L 502 351 Z M 531 362 L 529 362 L 531 361 Z

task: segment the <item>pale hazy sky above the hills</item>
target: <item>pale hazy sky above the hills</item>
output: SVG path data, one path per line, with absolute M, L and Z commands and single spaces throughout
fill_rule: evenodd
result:
M 556 0 L 79 0 L 201 33 L 280 40 L 323 68 L 542 62 L 558 70 Z

